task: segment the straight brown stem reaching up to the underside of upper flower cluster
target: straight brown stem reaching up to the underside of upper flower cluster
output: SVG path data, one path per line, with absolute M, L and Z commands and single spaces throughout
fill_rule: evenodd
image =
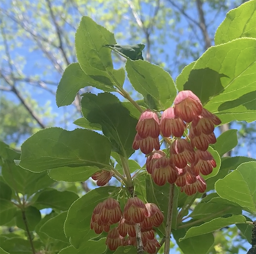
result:
M 171 184 L 170 192 L 169 192 L 166 227 L 165 227 L 164 254 L 169 254 L 170 252 L 170 235 L 172 230 L 173 198 L 174 198 L 174 184 Z

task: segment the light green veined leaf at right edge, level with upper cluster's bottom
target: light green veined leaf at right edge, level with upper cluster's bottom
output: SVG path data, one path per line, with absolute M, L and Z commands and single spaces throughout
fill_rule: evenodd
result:
M 256 162 L 245 162 L 215 183 L 221 198 L 235 202 L 244 210 L 256 213 Z

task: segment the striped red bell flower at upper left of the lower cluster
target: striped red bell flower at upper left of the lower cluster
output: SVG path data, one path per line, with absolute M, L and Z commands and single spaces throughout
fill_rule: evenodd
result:
M 122 211 L 119 202 L 114 198 L 108 198 L 102 203 L 102 208 L 100 211 L 100 221 L 103 225 L 105 224 L 115 224 L 122 216 Z M 100 223 L 98 222 L 100 225 Z

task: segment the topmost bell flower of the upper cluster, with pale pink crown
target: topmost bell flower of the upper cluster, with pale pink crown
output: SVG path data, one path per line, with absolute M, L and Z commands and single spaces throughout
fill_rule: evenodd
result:
M 174 114 L 190 123 L 202 113 L 202 103 L 190 90 L 180 91 L 174 99 Z

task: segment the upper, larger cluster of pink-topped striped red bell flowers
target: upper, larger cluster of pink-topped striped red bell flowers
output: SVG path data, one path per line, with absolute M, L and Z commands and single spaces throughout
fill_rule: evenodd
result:
M 187 195 L 203 193 L 206 183 L 201 175 L 216 167 L 207 149 L 216 143 L 214 125 L 221 121 L 189 90 L 179 92 L 173 104 L 164 110 L 161 120 L 150 109 L 141 114 L 132 147 L 147 155 L 146 169 L 157 185 L 176 183 Z M 186 130 L 189 133 L 182 138 Z M 169 154 L 160 150 L 159 135 L 170 140 Z

